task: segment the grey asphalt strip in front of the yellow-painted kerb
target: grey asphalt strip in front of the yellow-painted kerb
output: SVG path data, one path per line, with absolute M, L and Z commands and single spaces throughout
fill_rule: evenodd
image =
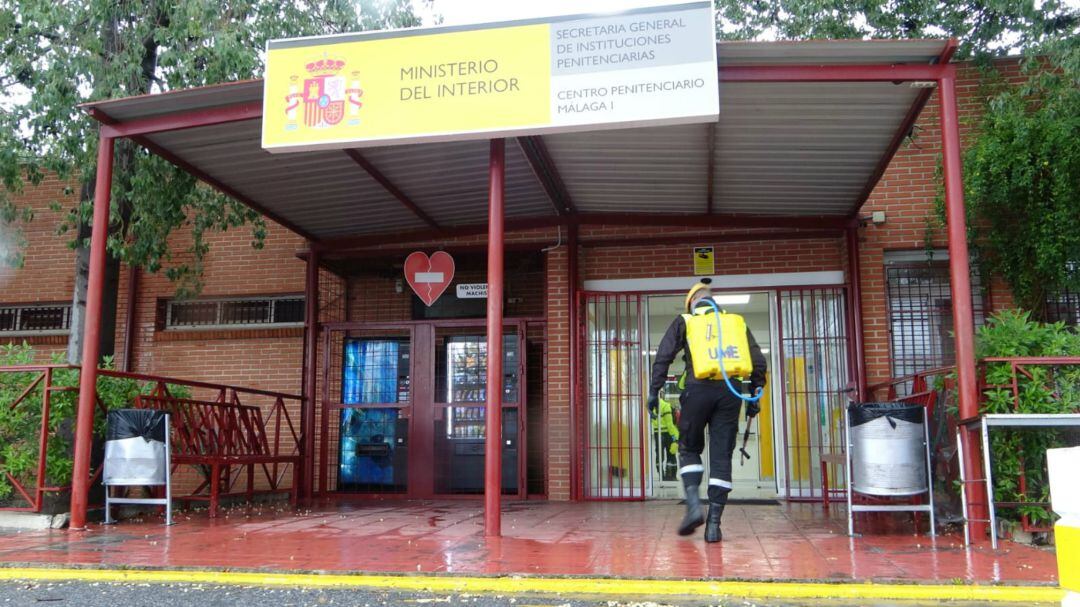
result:
M 946 603 L 910 602 L 760 602 L 739 598 L 664 597 L 659 601 L 635 598 L 618 601 L 610 597 L 529 594 L 445 594 L 388 592 L 366 589 L 289 589 L 213 584 L 153 584 L 95 582 L 0 582 L 0 605 L 36 606 L 78 605 L 78 607 L 114 607 L 118 605 L 154 607 L 322 607 L 328 605 L 382 607 L 411 605 L 451 607 L 923 607 Z M 989 607 L 1001 603 L 947 603 L 949 607 Z

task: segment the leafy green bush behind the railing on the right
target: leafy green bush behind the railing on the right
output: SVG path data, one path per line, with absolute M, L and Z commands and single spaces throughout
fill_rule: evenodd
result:
M 977 335 L 977 355 L 1080 356 L 1080 335 L 1063 323 L 1040 323 L 1029 312 L 1005 310 L 994 315 Z M 1008 363 L 988 363 L 987 389 L 981 412 L 986 414 L 1070 414 L 1080 413 L 1080 365 L 1057 368 L 1030 365 L 1027 375 L 1016 377 L 1017 396 L 1013 395 L 1012 367 Z M 998 501 L 1050 501 L 1044 454 L 1065 446 L 1061 433 L 1050 430 L 995 430 L 990 435 L 994 454 L 994 491 Z M 1027 491 L 1020 490 L 1021 471 Z M 1017 520 L 1027 514 L 1034 523 L 1050 520 L 1040 505 L 1002 510 L 1002 518 Z

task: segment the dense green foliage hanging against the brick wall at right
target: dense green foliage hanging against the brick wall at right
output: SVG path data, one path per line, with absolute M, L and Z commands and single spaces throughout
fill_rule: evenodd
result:
M 964 158 L 969 240 L 984 271 L 1018 306 L 1080 286 L 1080 69 L 1065 56 L 1031 62 L 1021 86 L 986 106 Z M 1048 62 L 1052 62 L 1049 63 Z

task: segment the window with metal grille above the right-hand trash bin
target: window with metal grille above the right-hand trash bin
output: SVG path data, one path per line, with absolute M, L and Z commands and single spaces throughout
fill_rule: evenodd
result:
M 886 266 L 892 376 L 906 377 L 956 363 L 953 341 L 953 295 L 947 261 Z M 971 275 L 975 324 L 985 308 L 978 273 Z M 904 387 L 899 387 L 901 392 Z

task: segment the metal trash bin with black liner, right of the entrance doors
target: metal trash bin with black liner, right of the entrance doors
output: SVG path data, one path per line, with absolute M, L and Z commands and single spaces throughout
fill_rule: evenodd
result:
M 851 403 L 843 412 L 848 472 L 848 534 L 856 512 L 927 512 L 935 535 L 930 486 L 927 407 L 910 403 Z M 927 503 L 853 503 L 852 494 L 904 498 L 926 494 Z

